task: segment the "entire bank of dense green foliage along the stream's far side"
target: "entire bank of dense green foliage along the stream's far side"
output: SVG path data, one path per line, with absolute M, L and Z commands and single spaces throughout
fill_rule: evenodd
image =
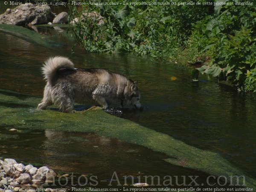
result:
M 172 1 L 176 5 L 159 5 L 157 0 L 151 1 L 157 5 L 93 2 L 101 5 L 70 6 L 70 21 L 80 18 L 70 29 L 88 52 L 134 52 L 160 61 L 206 64 L 198 71 L 240 90 L 256 91 L 255 6 L 235 5 L 239 0 L 222 0 L 215 6 L 202 5 L 213 0 L 179 6 L 178 0 Z

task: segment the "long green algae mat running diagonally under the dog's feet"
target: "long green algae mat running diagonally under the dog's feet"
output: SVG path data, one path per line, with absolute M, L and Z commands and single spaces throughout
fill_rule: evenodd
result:
M 170 156 L 166 161 L 173 165 L 225 176 L 227 179 L 234 176 L 234 184 L 236 184 L 235 176 L 244 176 L 246 186 L 256 189 L 256 180 L 246 176 L 221 155 L 192 147 L 167 134 L 112 116 L 102 110 L 87 110 L 83 113 L 61 113 L 49 109 L 36 111 L 39 98 L 7 90 L 0 90 L 0 100 L 2 126 L 94 132 L 163 152 Z M 239 179 L 242 185 L 243 180 L 241 177 Z

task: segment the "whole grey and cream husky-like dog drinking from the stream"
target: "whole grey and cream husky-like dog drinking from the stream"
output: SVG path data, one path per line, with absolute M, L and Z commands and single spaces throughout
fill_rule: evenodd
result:
M 73 111 L 74 102 L 99 105 L 102 109 L 110 105 L 134 106 L 142 109 L 137 81 L 127 79 L 105 69 L 74 68 L 68 58 L 49 58 L 42 67 L 44 98 L 37 109 L 57 105 L 61 111 Z

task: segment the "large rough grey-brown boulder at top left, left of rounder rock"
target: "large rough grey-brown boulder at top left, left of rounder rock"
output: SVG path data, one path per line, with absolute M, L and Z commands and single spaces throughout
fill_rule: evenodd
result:
M 49 6 L 20 5 L 15 9 L 7 9 L 0 15 L 0 23 L 27 25 L 28 23 L 44 24 L 53 20 L 55 14 Z

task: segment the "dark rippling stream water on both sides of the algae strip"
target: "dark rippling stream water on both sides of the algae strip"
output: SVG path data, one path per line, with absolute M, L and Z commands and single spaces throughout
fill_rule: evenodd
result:
M 0 32 L 1 89 L 41 97 L 45 82 L 40 67 L 50 55 L 68 56 L 76 67 L 106 68 L 124 74 L 139 82 L 145 110 L 125 109 L 117 116 L 196 148 L 221 154 L 233 166 L 256 178 L 256 97 L 253 94 L 236 93 L 206 76 L 203 78 L 207 81 L 194 84 L 187 69 L 132 55 L 87 54 L 78 48 L 72 55 L 72 42 L 53 31 L 51 34 L 58 48 L 42 47 Z M 8 129 L 1 127 L 0 133 L 18 135 L 18 138 L 1 142 L 1 157 L 41 163 L 58 172 L 92 173 L 104 179 L 110 178 L 114 171 L 121 175 L 141 172 L 207 177 L 203 172 L 170 165 L 163 161 L 169 158 L 165 154 L 93 133 L 54 131 L 49 127 L 46 131 L 27 130 L 21 134 L 9 133 Z

